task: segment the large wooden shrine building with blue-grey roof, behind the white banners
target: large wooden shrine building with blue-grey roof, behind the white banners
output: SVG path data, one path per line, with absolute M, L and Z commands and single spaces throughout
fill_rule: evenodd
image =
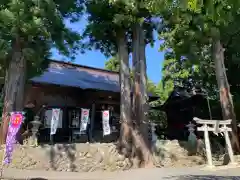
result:
M 61 109 L 54 142 L 109 142 L 119 136 L 119 90 L 119 74 L 116 72 L 52 61 L 46 72 L 31 79 L 26 88 L 25 103 L 34 103 L 34 113 L 40 113 L 40 142 L 50 141 L 53 108 Z M 156 98 L 150 96 L 150 99 Z M 85 135 L 79 134 L 81 108 L 90 110 L 90 124 Z M 110 112 L 111 134 L 105 137 L 103 110 Z

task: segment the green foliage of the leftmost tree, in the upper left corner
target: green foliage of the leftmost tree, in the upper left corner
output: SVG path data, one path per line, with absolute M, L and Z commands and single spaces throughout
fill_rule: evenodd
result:
M 72 20 L 79 17 L 82 10 L 81 0 L 1 1 L 0 44 L 4 44 L 7 51 L 5 55 L 0 53 L 0 59 L 11 56 L 11 46 L 19 40 L 28 66 L 33 68 L 28 68 L 31 71 L 28 74 L 39 72 L 39 66 L 49 57 L 52 47 L 73 57 L 79 48 L 80 36 L 65 26 L 63 17 Z

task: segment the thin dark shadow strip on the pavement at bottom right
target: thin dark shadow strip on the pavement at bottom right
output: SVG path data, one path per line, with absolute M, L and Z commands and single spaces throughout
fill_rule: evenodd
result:
M 164 179 L 169 180 L 240 180 L 240 176 L 213 176 L 213 175 L 189 175 L 189 176 L 172 176 Z

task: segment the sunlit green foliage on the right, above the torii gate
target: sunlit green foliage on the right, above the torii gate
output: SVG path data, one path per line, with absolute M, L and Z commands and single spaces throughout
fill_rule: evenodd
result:
M 161 50 L 167 50 L 163 67 L 163 85 L 201 85 L 209 96 L 216 98 L 216 80 L 211 60 L 211 44 L 220 38 L 225 44 L 226 64 L 233 71 L 232 56 L 239 26 L 239 2 L 233 0 L 152 1 L 152 12 L 162 18 L 159 38 L 164 40 Z M 153 5 L 152 5 L 153 6 Z M 151 6 L 150 6 L 151 7 Z M 231 39 L 231 40 L 230 40 Z M 230 42 L 231 41 L 231 42 Z M 230 45 L 230 44 L 231 45 Z M 231 51 L 231 53 L 229 52 Z M 235 58 L 233 58 L 235 57 Z M 227 71 L 229 81 L 232 73 Z M 237 83 L 238 84 L 238 83 Z

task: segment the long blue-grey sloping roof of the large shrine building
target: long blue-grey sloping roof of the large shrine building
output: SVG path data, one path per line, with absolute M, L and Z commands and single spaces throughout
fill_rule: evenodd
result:
M 48 69 L 31 81 L 81 89 L 120 91 L 118 73 L 61 61 L 51 61 Z

